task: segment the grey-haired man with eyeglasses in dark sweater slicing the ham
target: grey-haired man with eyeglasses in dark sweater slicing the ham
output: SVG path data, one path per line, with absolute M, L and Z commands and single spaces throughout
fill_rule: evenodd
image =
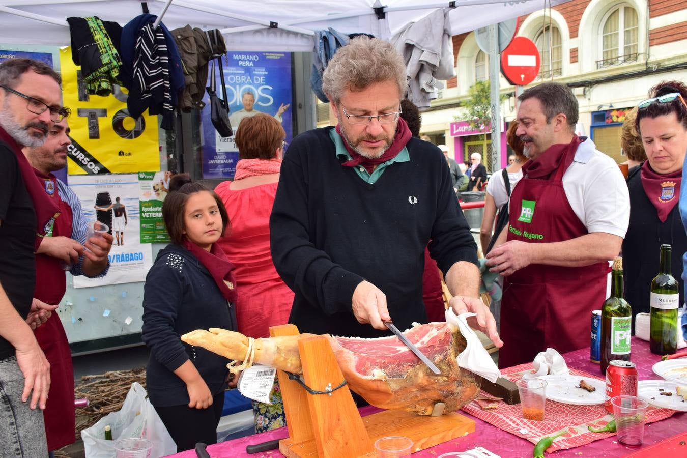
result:
M 323 75 L 339 124 L 296 137 L 270 218 L 272 258 L 295 292 L 301 332 L 390 335 L 427 322 L 424 251 L 442 269 L 455 312 L 502 345 L 479 299 L 477 247 L 456 205 L 442 152 L 399 119 L 405 64 L 390 43 L 361 36 Z M 430 242 L 431 240 L 431 242 Z

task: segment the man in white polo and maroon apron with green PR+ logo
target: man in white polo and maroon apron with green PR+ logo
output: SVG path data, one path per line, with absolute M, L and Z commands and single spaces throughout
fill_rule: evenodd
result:
M 504 276 L 499 367 L 552 347 L 589 346 L 589 317 L 606 298 L 608 261 L 628 227 L 627 185 L 613 159 L 575 135 L 578 102 L 547 82 L 521 95 L 516 135 L 530 160 L 510 194 L 510 221 L 486 255 Z M 507 242 L 506 242 L 507 238 Z

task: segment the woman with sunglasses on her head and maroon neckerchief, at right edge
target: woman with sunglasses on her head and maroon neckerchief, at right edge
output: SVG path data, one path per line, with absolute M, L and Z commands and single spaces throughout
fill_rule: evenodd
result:
M 673 277 L 680 283 L 679 303 L 684 302 L 682 254 L 687 251 L 687 235 L 677 203 L 687 150 L 687 86 L 662 82 L 649 95 L 638 105 L 635 120 L 647 160 L 627 177 L 630 222 L 622 243 L 625 298 L 633 315 L 649 312 L 661 244 L 673 247 Z

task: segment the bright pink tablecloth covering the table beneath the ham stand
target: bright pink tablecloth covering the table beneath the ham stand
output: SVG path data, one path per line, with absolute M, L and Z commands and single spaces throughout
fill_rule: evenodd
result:
M 589 348 L 583 350 L 576 350 L 565 355 L 565 361 L 570 367 L 582 369 L 590 374 L 600 374 L 598 365 L 589 361 Z M 649 352 L 649 343 L 641 341 L 633 337 L 632 340 L 632 360 L 637 364 L 640 380 L 660 379 L 659 376 L 653 374 L 651 366 L 660 360 L 660 356 L 651 354 Z M 379 411 L 376 407 L 363 407 L 361 415 L 370 415 Z M 462 412 L 462 415 L 470 417 L 475 420 L 475 432 L 458 439 L 453 439 L 449 442 L 444 442 L 438 446 L 422 450 L 414 453 L 413 457 L 436 458 L 438 455 L 453 451 L 470 450 L 475 447 L 484 447 L 491 453 L 495 453 L 502 458 L 510 457 L 531 457 L 532 444 L 525 439 L 521 439 L 515 435 L 507 433 L 491 424 L 483 422 L 479 418 L 473 417 L 468 413 Z M 572 448 L 570 450 L 559 450 L 552 453 L 551 457 L 624 457 L 641 448 L 646 448 L 664 439 L 668 439 L 677 433 L 687 431 L 687 414 L 678 412 L 672 417 L 647 424 L 644 428 L 644 445 L 640 447 L 629 447 L 618 444 L 616 436 L 607 437 L 585 446 Z M 255 458 L 272 458 L 282 457 L 278 450 L 271 450 L 264 453 L 256 453 L 248 455 L 246 453 L 246 446 L 251 444 L 260 444 L 261 442 L 269 441 L 271 439 L 283 439 L 289 435 L 286 428 L 280 428 L 267 433 L 260 433 L 248 437 L 241 437 L 232 441 L 223 442 L 207 448 L 210 457 L 255 457 Z M 177 458 L 194 458 L 196 453 L 193 450 L 188 452 L 173 455 Z

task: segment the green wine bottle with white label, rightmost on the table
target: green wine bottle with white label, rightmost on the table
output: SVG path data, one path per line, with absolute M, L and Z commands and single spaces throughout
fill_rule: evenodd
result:
M 677 349 L 679 284 L 671 275 L 671 246 L 661 245 L 658 275 L 651 281 L 651 353 L 673 354 Z

